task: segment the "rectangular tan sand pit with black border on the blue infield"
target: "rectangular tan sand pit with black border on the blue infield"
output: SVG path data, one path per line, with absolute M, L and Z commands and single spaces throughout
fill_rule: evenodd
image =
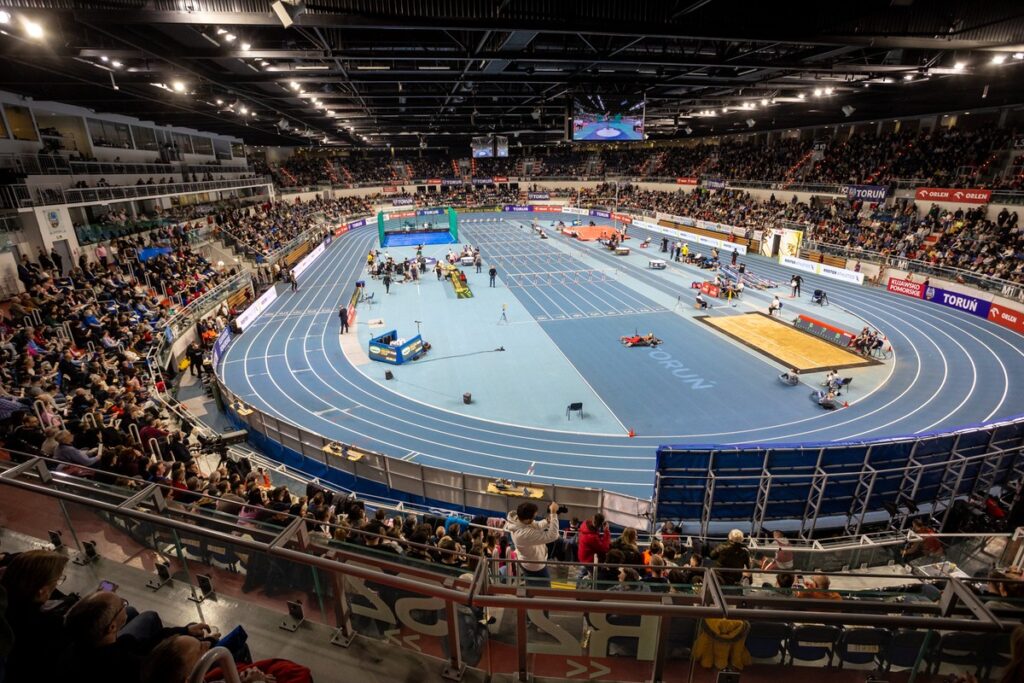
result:
M 802 373 L 879 364 L 874 358 L 865 358 L 765 313 L 722 317 L 698 315 L 697 319 L 772 360 Z

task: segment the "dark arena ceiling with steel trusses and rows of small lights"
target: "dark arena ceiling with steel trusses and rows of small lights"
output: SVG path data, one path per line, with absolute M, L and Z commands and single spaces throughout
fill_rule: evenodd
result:
M 651 139 L 1024 102 L 1020 0 L 309 0 L 288 29 L 271 5 L 0 0 L 0 89 L 252 144 L 395 146 L 558 141 L 582 93 L 645 94 Z

